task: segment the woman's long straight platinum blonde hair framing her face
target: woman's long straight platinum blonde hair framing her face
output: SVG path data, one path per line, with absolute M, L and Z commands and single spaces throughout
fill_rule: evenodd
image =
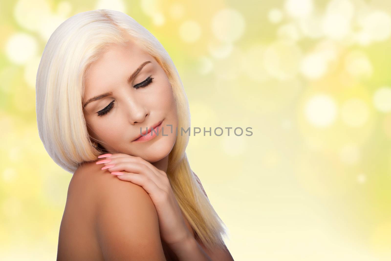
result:
M 161 43 L 127 14 L 99 9 L 75 14 L 50 36 L 36 78 L 36 115 L 39 137 L 50 157 L 74 173 L 83 162 L 102 153 L 93 146 L 86 128 L 82 99 L 84 78 L 91 64 L 109 45 L 126 37 L 141 43 L 165 70 L 174 93 L 178 130 L 190 127 L 190 110 L 178 71 Z M 188 135 L 177 135 L 169 154 L 167 176 L 179 207 L 196 236 L 209 249 L 222 247 L 226 227 L 192 174 L 185 149 Z

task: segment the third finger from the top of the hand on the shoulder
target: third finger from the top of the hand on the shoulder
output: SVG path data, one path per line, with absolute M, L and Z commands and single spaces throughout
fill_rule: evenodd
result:
M 164 182 L 149 167 L 147 167 L 141 163 L 119 162 L 118 164 L 115 164 L 115 166 L 110 167 L 108 170 L 110 172 L 126 171 L 126 172 L 130 172 L 130 173 L 136 173 L 138 175 L 144 175 L 144 176 L 147 176 L 147 178 L 149 178 L 150 180 L 152 180 L 161 189 L 165 189 L 165 187 L 167 187 L 167 182 Z

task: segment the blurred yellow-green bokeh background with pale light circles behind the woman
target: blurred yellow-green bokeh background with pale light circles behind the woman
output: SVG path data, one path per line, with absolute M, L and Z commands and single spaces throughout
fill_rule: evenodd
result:
M 1 260 L 56 259 L 72 175 L 39 139 L 36 72 L 60 23 L 103 8 L 161 41 L 212 128 L 187 154 L 235 260 L 391 260 L 391 1 L 0 5 Z

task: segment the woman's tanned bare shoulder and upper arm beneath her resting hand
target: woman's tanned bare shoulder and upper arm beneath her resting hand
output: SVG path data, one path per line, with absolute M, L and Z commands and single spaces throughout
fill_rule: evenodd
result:
M 84 191 L 95 206 L 96 234 L 104 259 L 165 260 L 158 215 L 149 194 L 101 170 L 102 166 L 95 162 L 81 165 L 69 191 Z

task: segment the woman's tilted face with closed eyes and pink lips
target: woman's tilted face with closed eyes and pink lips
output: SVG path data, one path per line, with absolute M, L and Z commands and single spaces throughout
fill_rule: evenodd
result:
M 172 88 L 157 61 L 136 43 L 111 45 L 91 65 L 84 88 L 83 113 L 88 133 L 108 153 L 126 153 L 148 162 L 170 153 L 178 127 Z M 100 99 L 88 102 L 99 95 Z M 146 133 L 147 127 L 150 131 L 161 121 L 158 135 L 153 132 L 150 140 L 135 140 Z

